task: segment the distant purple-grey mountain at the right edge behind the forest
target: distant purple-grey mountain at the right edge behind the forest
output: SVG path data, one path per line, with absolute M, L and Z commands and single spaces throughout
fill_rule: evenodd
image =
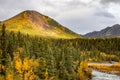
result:
M 120 25 L 115 24 L 111 27 L 102 29 L 101 31 L 94 31 L 83 35 L 84 37 L 120 37 Z

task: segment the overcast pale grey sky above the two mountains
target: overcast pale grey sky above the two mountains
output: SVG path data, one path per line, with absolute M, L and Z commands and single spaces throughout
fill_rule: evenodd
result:
M 0 0 L 0 21 L 25 10 L 47 15 L 78 34 L 120 24 L 120 0 Z

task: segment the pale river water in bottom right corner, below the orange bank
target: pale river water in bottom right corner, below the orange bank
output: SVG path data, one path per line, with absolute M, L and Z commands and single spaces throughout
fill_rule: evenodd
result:
M 92 74 L 95 76 L 92 80 L 120 80 L 120 76 L 107 74 L 99 71 L 92 71 Z

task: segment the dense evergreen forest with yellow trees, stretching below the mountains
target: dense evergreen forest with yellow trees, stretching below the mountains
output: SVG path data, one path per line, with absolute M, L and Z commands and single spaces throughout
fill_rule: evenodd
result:
M 0 32 L 0 80 L 89 80 L 88 61 L 119 61 L 120 38 L 53 39 Z

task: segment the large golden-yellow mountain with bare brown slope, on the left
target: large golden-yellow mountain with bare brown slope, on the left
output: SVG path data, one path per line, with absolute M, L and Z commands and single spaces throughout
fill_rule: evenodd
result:
M 78 34 L 60 25 L 58 22 L 33 10 L 24 11 L 8 20 L 3 21 L 8 31 L 42 37 L 77 38 Z

